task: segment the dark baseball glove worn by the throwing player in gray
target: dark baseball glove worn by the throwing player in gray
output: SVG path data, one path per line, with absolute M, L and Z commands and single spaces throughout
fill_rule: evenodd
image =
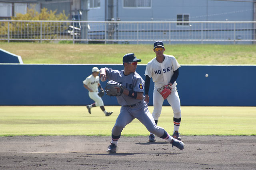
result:
M 117 92 L 117 88 L 120 88 L 119 92 Z M 120 96 L 124 92 L 124 86 L 114 80 L 110 80 L 106 83 L 105 92 L 108 96 Z

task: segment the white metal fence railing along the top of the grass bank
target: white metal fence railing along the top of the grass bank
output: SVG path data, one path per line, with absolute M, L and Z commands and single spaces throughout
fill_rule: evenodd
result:
M 17 21 L 0 20 L 2 41 L 256 42 L 256 21 Z

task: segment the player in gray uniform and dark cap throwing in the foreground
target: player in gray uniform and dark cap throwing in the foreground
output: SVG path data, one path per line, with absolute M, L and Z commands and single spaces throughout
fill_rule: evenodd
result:
M 121 137 L 121 132 L 124 127 L 133 119 L 137 118 L 151 133 L 156 134 L 162 139 L 166 139 L 178 149 L 184 149 L 184 143 L 174 139 L 162 127 L 158 127 L 148 110 L 148 105 L 144 101 L 144 80 L 136 73 L 137 63 L 140 62 L 134 53 L 129 53 L 123 57 L 124 70 L 112 70 L 111 68 L 100 69 L 100 80 L 114 80 L 122 86 L 117 91 L 120 96 L 117 96 L 118 104 L 122 107 L 120 114 L 116 119 L 116 123 L 112 129 L 112 141 L 108 146 L 107 152 L 115 153 L 118 139 Z M 121 90 L 122 89 L 122 90 Z

